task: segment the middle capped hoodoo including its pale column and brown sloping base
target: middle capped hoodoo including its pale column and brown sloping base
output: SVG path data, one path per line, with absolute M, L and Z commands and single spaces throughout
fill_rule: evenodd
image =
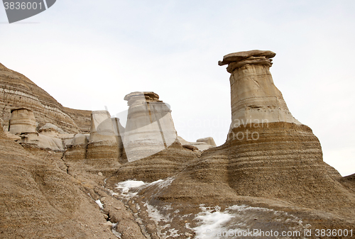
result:
M 182 147 L 171 111 L 159 100 L 158 94 L 132 92 L 125 100 L 129 101 L 127 124 L 125 129 L 120 124 L 118 128 L 124 142 L 123 155 L 128 162 L 107 181 L 108 184 L 126 179 L 152 182 L 171 177 L 200 156 L 200 152 Z

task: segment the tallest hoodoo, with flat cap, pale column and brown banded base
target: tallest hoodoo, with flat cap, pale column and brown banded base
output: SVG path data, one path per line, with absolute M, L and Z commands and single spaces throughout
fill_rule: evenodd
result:
M 314 187 L 312 196 L 324 194 L 329 204 L 338 204 L 339 195 L 329 193 L 337 182 L 322 160 L 319 140 L 293 118 L 273 84 L 269 72 L 273 56 L 271 51 L 253 50 L 231 53 L 219 62 L 228 64 L 231 73 L 232 125 L 223 146 L 229 151 L 229 186 L 240 195 L 288 195 L 298 203 L 309 194 L 305 188 Z M 337 194 L 343 192 L 337 189 Z

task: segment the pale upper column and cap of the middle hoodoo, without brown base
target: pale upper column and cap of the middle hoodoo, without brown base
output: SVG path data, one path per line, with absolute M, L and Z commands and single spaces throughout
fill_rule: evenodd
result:
M 154 92 L 132 92 L 124 132 L 124 149 L 129 162 L 167 149 L 177 139 L 171 111 Z

